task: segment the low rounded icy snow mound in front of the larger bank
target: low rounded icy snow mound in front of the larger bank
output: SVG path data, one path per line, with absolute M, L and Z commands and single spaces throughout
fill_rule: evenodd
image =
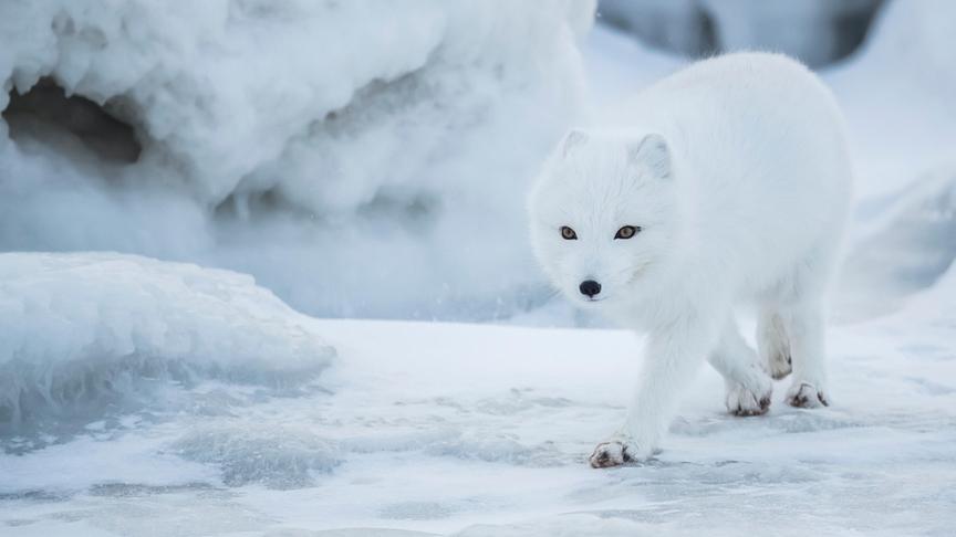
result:
M 333 355 L 249 276 L 121 254 L 0 255 L 0 434 L 85 423 L 170 381 L 301 386 Z

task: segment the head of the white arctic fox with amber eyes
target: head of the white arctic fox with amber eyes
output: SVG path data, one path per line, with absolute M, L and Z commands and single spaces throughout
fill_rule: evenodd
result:
M 582 306 L 653 285 L 677 228 L 672 151 L 659 135 L 572 130 L 529 197 L 531 241 L 552 283 Z

